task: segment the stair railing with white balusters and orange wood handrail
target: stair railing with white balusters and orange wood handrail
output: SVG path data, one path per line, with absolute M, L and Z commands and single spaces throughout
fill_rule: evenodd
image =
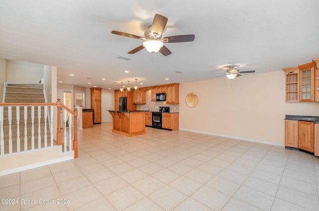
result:
M 20 109 L 20 106 L 23 109 Z M 57 140 L 54 144 L 53 109 L 56 108 L 58 109 L 58 128 Z M 60 128 L 60 108 L 63 109 L 61 118 L 64 119 L 63 139 Z M 70 110 L 61 104 L 60 99 L 56 104 L 0 103 L 0 156 L 63 145 L 62 153 L 74 150 L 74 158 L 77 158 L 76 118 L 77 109 Z M 73 119 L 74 140 L 72 141 Z M 24 124 L 21 125 L 20 122 Z

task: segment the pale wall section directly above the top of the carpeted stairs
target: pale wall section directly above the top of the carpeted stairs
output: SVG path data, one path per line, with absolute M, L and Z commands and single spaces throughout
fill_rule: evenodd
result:
M 43 78 L 43 65 L 6 60 L 7 81 L 36 84 Z

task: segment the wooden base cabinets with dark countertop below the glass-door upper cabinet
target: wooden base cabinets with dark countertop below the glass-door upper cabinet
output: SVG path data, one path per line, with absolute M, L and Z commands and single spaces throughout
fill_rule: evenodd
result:
M 285 146 L 319 156 L 319 121 L 302 116 L 300 120 L 285 119 Z M 305 120 L 306 119 L 306 120 Z

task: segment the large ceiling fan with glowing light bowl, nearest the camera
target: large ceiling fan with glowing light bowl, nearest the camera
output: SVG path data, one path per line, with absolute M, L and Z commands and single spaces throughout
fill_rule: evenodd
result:
M 160 53 L 164 56 L 168 56 L 171 54 L 170 50 L 164 46 L 165 43 L 174 43 L 174 42 L 191 42 L 194 41 L 194 34 L 185 34 L 185 35 L 175 35 L 163 37 L 162 33 L 167 23 L 167 17 L 156 14 L 153 19 L 152 25 L 149 26 L 147 30 L 144 32 L 144 37 L 140 37 L 134 34 L 129 34 L 121 31 L 112 31 L 112 34 L 117 34 L 125 37 L 131 37 L 135 39 L 145 40 L 142 45 L 137 48 L 134 48 L 132 51 L 128 52 L 128 54 L 134 54 L 139 52 L 140 50 L 146 48 L 151 53 L 156 53 L 160 51 Z

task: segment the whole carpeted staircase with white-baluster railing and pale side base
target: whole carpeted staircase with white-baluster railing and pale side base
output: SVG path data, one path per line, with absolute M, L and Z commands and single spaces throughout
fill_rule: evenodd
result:
M 45 103 L 42 84 L 8 84 L 0 103 L 0 176 L 77 158 L 77 115 L 60 99 Z M 72 122 L 61 131 L 63 116 Z

